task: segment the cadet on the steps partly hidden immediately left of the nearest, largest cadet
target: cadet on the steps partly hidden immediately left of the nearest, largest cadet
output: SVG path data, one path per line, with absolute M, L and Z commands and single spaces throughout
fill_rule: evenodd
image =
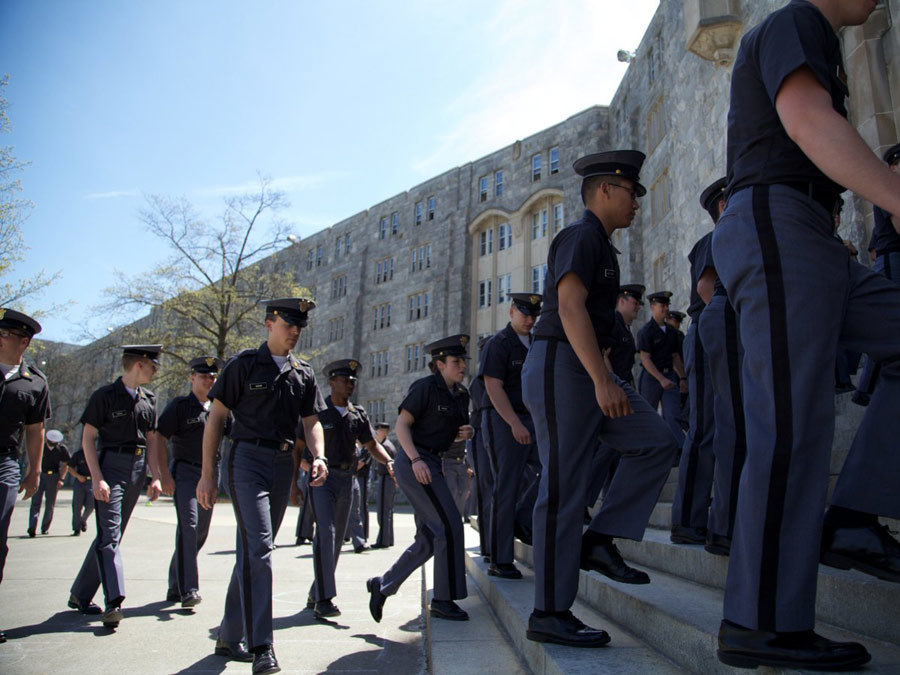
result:
M 725 209 L 726 179 L 720 178 L 700 195 L 700 204 L 709 213 L 713 223 Z M 711 235 L 712 233 L 710 233 Z M 710 236 L 707 235 L 707 236 Z M 744 403 L 741 393 L 741 366 L 744 348 L 737 330 L 737 315 L 728 301 L 725 287 L 716 274 L 712 260 L 712 237 L 708 240 L 704 269 L 695 284 L 706 308 L 700 314 L 697 330 L 703 351 L 709 358 L 709 381 L 713 391 L 713 470 L 712 504 L 707 523 L 706 550 L 715 555 L 728 555 L 734 532 L 734 514 L 737 508 L 738 484 L 744 457 L 747 454 L 747 438 L 744 433 Z

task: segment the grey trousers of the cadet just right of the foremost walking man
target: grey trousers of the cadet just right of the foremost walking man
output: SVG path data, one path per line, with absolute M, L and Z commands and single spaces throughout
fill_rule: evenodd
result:
M 316 536 L 313 539 L 313 570 L 316 577 L 309 589 L 309 597 L 316 602 L 330 600 L 337 595 L 334 572 L 344 545 L 355 484 L 354 471 L 329 468 L 325 483 L 309 490 L 316 519 Z

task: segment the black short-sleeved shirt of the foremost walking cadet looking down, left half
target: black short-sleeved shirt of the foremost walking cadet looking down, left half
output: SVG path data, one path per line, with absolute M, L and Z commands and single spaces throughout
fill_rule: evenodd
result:
M 279 370 L 265 342 L 228 360 L 209 399 L 232 411 L 235 441 L 293 441 L 301 417 L 325 410 L 310 365 L 289 354 Z

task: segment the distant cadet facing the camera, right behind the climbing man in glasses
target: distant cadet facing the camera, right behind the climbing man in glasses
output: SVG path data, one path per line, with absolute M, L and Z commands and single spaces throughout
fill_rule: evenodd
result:
M 663 419 L 672 430 L 680 448 L 684 443 L 684 432 L 679 421 L 681 394 L 687 391 L 687 380 L 679 355 L 679 331 L 665 322 L 671 297 L 671 291 L 657 291 L 647 296 L 651 317 L 638 331 L 637 348 L 641 355 L 638 389 L 654 410 L 662 401 Z

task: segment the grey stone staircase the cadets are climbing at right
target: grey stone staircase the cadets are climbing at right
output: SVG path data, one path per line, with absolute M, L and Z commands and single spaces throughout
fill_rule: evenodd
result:
M 838 397 L 836 403 L 832 483 L 863 412 L 849 404 L 849 396 Z M 617 540 L 626 560 L 650 574 L 649 585 L 621 584 L 596 572 L 580 572 L 573 611 L 589 625 L 610 633 L 612 642 L 605 649 L 572 649 L 529 641 L 525 629 L 534 594 L 531 547 L 516 542 L 516 559 L 524 578 L 498 580 L 487 575 L 487 564 L 478 555 L 477 539 L 468 540 L 466 566 L 470 579 L 533 672 L 738 672 L 716 658 L 728 558 L 711 555 L 700 545 L 678 545 L 669 540 L 677 480 L 678 470 L 673 469 L 644 540 Z M 888 524 L 898 529 L 896 521 Z M 866 645 L 872 654 L 867 672 L 900 673 L 900 584 L 820 566 L 816 607 L 818 632 Z M 761 672 L 778 671 L 764 668 Z

